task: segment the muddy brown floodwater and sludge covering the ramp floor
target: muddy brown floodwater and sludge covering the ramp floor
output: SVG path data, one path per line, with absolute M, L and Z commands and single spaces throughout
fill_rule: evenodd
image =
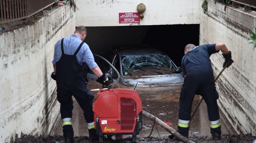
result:
M 98 84 L 97 82 L 89 82 L 88 88 L 95 89 L 101 88 L 102 85 Z M 115 84 L 117 88 L 127 88 L 125 86 Z M 129 87 L 133 89 L 134 87 Z M 142 99 L 143 110 L 149 112 L 157 116 L 162 121 L 169 121 L 172 122 L 172 128 L 177 130 L 177 114 L 178 114 L 178 101 L 179 101 L 179 94 L 180 94 L 181 85 L 175 86 L 168 86 L 168 87 L 137 87 L 136 91 L 138 92 L 140 98 Z M 95 96 L 97 91 L 92 92 Z M 195 106 L 201 97 L 195 96 L 193 106 Z M 89 143 L 88 133 L 85 130 L 86 125 L 84 121 L 84 116 L 82 116 L 82 110 L 80 109 L 78 103 L 74 100 L 74 109 L 73 112 L 73 127 L 77 128 L 74 130 L 75 134 L 75 141 L 76 143 Z M 193 107 L 194 108 L 194 107 Z M 79 109 L 79 110 L 78 110 Z M 206 113 L 204 113 L 206 112 Z M 77 120 L 76 120 L 77 119 Z M 207 120 L 207 111 L 206 105 L 202 102 L 201 106 L 198 108 L 198 112 L 194 116 L 194 120 L 191 122 L 190 127 L 190 138 L 197 142 L 197 143 L 252 143 L 256 137 L 252 136 L 251 134 L 247 135 L 234 135 L 235 132 L 232 130 L 228 130 L 231 128 L 229 124 L 225 123 L 225 120 L 222 119 L 222 139 L 218 142 L 213 142 L 212 137 L 209 136 L 209 127 L 208 122 L 206 124 L 203 121 Z M 59 123 L 60 127 L 58 127 L 59 131 L 55 131 L 53 136 L 29 136 L 24 135 L 22 138 L 19 138 L 16 143 L 64 143 L 64 138 L 61 136 L 62 133 L 62 122 L 60 120 Z M 169 132 L 165 131 L 163 128 L 156 126 L 152 132 L 151 137 L 147 138 L 151 132 L 153 125 L 153 121 L 143 118 L 143 128 L 140 131 L 140 134 L 137 136 L 137 143 L 180 143 L 175 139 L 168 138 L 170 135 Z M 205 128 L 203 128 L 205 126 Z M 196 133 L 197 132 L 197 133 Z M 159 137 L 160 135 L 160 137 Z M 112 141 L 106 141 L 103 139 L 105 143 L 131 143 L 132 136 L 131 135 L 123 135 L 121 137 L 112 137 Z M 120 139 L 121 138 L 121 139 Z M 95 142 L 97 143 L 97 142 Z

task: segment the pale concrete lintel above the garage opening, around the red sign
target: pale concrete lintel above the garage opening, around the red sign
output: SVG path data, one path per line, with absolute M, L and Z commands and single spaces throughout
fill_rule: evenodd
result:
M 144 18 L 139 25 L 198 24 L 199 0 L 77 0 L 76 26 L 127 26 L 119 24 L 118 13 L 138 12 L 137 5 L 145 4 Z

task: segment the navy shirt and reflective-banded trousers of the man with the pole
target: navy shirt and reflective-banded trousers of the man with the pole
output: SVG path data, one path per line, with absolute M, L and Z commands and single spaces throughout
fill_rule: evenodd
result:
M 180 93 L 178 132 L 188 137 L 191 107 L 194 95 L 201 95 L 207 104 L 210 131 L 221 134 L 220 116 L 210 55 L 216 53 L 215 44 L 202 45 L 189 51 L 182 58 L 182 74 L 186 75 Z

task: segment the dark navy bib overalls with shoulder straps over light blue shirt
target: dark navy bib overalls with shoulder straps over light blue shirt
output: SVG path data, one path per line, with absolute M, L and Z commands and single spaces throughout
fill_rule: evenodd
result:
M 74 136 L 72 127 L 72 95 L 78 101 L 80 107 L 84 111 L 85 120 L 94 127 L 94 114 L 92 111 L 92 103 L 94 95 L 88 91 L 87 82 L 82 75 L 83 66 L 76 59 L 82 42 L 74 55 L 66 55 L 63 50 L 63 40 L 61 41 L 62 56 L 56 62 L 56 82 L 57 82 L 57 99 L 60 103 L 60 114 L 62 118 L 63 136 L 70 138 Z M 68 47 L 65 47 L 68 48 Z M 89 128 L 89 125 L 88 125 Z

